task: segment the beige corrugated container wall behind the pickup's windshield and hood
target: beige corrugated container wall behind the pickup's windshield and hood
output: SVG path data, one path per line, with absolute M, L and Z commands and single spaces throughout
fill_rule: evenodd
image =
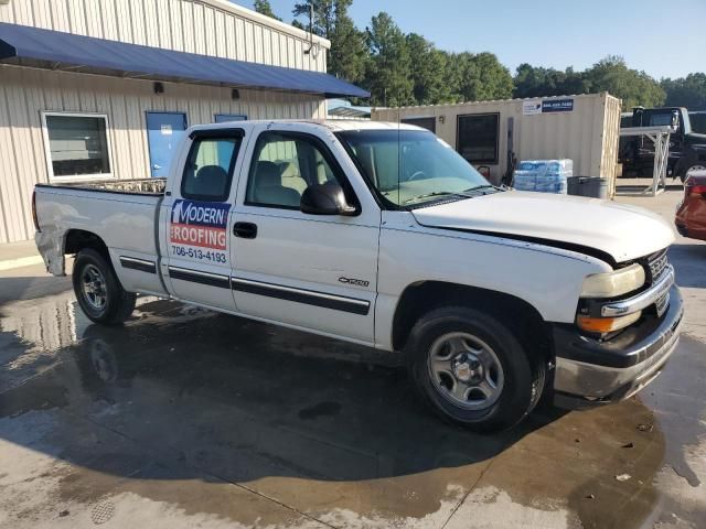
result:
M 523 100 L 478 101 L 461 105 L 432 105 L 373 109 L 376 121 L 405 118 L 436 118 L 436 133 L 457 147 L 457 118 L 467 114 L 500 114 L 499 163 L 490 165 L 491 176 L 499 182 L 507 169 L 507 126 L 514 120 L 514 152 L 517 160 L 574 160 L 574 174 L 614 179 L 617 138 L 620 125 L 620 100 L 608 94 L 566 96 L 547 99 L 574 99 L 570 112 L 523 115 Z

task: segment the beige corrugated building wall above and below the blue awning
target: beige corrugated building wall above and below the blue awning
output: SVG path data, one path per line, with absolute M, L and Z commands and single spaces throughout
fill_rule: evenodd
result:
M 226 0 L 10 0 L 0 22 L 275 66 L 325 72 L 330 43 Z M 323 98 L 34 71 L 0 65 L 0 242 L 32 236 L 31 194 L 47 182 L 42 111 L 108 116 L 110 163 L 118 179 L 149 176 L 147 111 L 181 111 L 190 125 L 215 114 L 249 119 L 325 118 Z

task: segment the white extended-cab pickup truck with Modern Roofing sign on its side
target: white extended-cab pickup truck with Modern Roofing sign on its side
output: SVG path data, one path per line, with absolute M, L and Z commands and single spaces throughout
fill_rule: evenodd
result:
M 682 298 L 660 217 L 490 185 L 413 126 L 193 127 L 165 181 L 36 186 L 36 244 L 94 322 L 136 293 L 403 355 L 426 402 L 510 428 L 544 391 L 627 398 L 662 370 Z

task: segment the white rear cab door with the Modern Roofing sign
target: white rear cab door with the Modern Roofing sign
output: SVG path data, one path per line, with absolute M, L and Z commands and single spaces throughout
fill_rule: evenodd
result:
M 228 224 L 244 131 L 195 130 L 190 139 L 163 215 L 168 281 L 182 300 L 233 311 Z

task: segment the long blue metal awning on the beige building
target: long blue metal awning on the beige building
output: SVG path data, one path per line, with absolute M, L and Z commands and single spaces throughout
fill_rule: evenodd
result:
M 22 66 L 237 88 L 368 97 L 332 75 L 0 23 L 0 61 Z

